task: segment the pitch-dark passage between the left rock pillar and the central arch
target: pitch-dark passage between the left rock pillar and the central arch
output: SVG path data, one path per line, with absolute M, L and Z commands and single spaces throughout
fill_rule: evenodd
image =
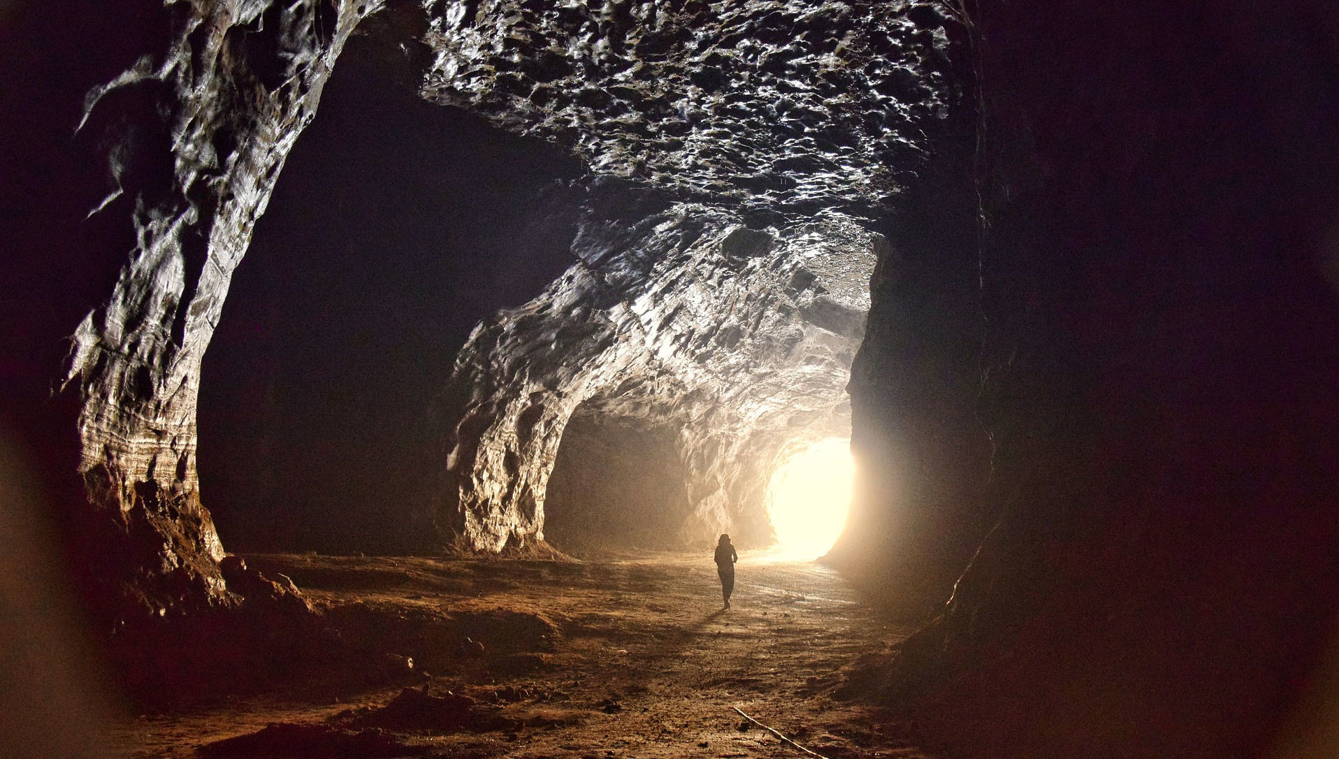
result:
M 570 264 L 581 163 L 426 103 L 400 33 L 340 55 L 206 353 L 201 493 L 236 550 L 430 545 L 455 353 Z

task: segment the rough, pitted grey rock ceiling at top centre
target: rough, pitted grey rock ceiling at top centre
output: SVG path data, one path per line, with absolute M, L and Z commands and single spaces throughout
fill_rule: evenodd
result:
M 424 95 L 703 202 L 886 209 L 960 95 L 941 7 L 427 3 Z

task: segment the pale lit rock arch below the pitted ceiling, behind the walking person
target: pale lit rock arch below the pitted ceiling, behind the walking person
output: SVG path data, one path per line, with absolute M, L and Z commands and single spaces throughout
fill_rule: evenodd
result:
M 769 232 L 694 205 L 627 228 L 589 220 L 580 261 L 461 351 L 442 527 L 493 552 L 542 539 L 574 414 L 672 434 L 680 542 L 749 523 L 781 446 L 849 430 L 845 384 L 881 241 L 836 214 Z M 767 537 L 753 527 L 744 539 Z

